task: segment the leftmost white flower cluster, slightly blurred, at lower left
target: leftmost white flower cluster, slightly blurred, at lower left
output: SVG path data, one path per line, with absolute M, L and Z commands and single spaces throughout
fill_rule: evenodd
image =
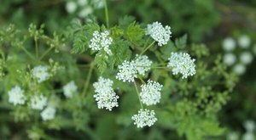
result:
M 9 103 L 17 105 L 17 104 L 25 104 L 26 97 L 23 94 L 24 90 L 22 90 L 19 86 L 13 87 L 9 92 Z

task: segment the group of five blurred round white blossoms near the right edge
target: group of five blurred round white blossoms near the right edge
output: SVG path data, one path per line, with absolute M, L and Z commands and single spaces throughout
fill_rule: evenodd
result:
M 242 35 L 237 39 L 237 45 L 240 48 L 236 48 L 236 40 L 232 37 L 226 37 L 222 43 L 224 49 L 224 64 L 231 67 L 233 72 L 237 75 L 244 74 L 247 69 L 247 64 L 253 62 L 253 53 L 248 50 L 250 49 L 250 44 L 251 39 L 247 35 Z M 240 50 L 236 51 L 236 49 Z M 236 53 L 235 51 L 241 53 Z

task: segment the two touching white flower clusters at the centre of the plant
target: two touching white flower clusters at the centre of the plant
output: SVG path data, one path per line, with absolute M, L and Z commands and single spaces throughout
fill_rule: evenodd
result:
M 137 74 L 144 76 L 153 62 L 148 59 L 148 56 L 136 56 L 136 59 L 131 61 L 124 61 L 118 66 L 118 73 L 116 78 L 119 81 L 134 81 L 137 78 Z

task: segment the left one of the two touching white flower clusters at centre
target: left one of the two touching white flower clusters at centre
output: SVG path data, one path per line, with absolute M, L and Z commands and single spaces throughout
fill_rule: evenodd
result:
M 134 78 L 137 78 L 137 67 L 135 66 L 134 61 L 126 61 L 118 66 L 119 72 L 117 73 L 116 78 L 119 81 L 134 81 Z

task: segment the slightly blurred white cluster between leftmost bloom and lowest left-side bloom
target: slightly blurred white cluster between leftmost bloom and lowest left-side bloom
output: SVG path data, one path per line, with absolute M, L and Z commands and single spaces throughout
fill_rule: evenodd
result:
M 31 108 L 32 109 L 43 109 L 44 106 L 47 104 L 47 98 L 44 97 L 44 95 L 40 95 L 40 96 L 33 96 L 31 98 Z

